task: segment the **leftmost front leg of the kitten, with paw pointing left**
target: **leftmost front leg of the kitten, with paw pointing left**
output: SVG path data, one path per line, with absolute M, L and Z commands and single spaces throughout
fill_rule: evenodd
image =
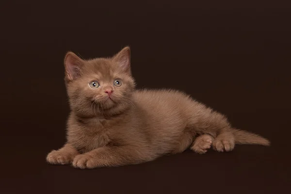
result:
M 47 156 L 50 164 L 69 164 L 79 152 L 70 144 L 65 144 L 58 150 L 52 150 Z

